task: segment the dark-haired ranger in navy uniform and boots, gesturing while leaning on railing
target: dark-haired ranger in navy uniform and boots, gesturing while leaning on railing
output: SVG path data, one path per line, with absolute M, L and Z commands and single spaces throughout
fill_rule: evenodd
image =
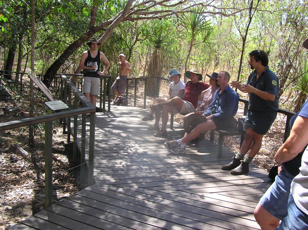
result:
M 268 67 L 267 54 L 263 50 L 253 50 L 249 57 L 249 65 L 254 71 L 249 75 L 247 83 L 231 83 L 233 88 L 249 93 L 249 109 L 244 121 L 245 141 L 233 161 L 221 167 L 223 170 L 231 170 L 233 175 L 249 173 L 249 163 L 259 152 L 262 138 L 275 121 L 279 109 L 278 78 Z

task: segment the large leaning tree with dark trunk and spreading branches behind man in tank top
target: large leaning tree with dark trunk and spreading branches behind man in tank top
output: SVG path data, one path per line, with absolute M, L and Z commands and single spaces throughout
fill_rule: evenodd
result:
M 50 85 L 50 82 L 55 77 L 60 66 L 93 35 L 104 30 L 103 35 L 99 38 L 99 42 L 104 43 L 121 22 L 164 18 L 187 10 L 187 8 L 189 8 L 187 5 L 180 8 L 185 2 L 186 0 L 161 0 L 151 2 L 135 2 L 135 0 L 128 0 L 125 4 L 119 2 L 118 5 L 120 7 L 115 7 L 113 11 L 109 10 L 108 7 L 110 7 L 110 4 L 117 3 L 116 1 L 105 2 L 102 0 L 94 0 L 91 3 L 86 2 L 84 10 L 90 15 L 89 21 L 87 22 L 87 29 L 85 32 L 81 32 L 79 38 L 69 44 L 54 63 L 50 65 L 44 75 L 43 82 L 46 85 Z M 103 12 L 104 7 L 108 10 Z M 106 18 L 104 18 L 105 13 L 108 16 Z

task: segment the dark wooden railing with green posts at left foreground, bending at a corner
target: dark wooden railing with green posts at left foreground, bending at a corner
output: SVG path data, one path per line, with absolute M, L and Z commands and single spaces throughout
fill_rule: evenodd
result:
M 52 204 L 52 121 L 62 118 L 67 118 L 70 121 L 70 117 L 74 116 L 74 120 L 77 118 L 77 115 L 82 114 L 83 123 L 85 123 L 85 114 L 90 113 L 90 130 L 89 130 L 89 163 L 88 163 L 88 185 L 93 184 L 94 182 L 94 140 L 95 140 L 95 112 L 96 108 L 91 104 L 90 101 L 76 88 L 75 85 L 64 75 L 60 74 L 62 80 L 65 82 L 64 89 L 69 89 L 71 93 L 74 94 L 74 106 L 72 110 L 67 110 L 59 113 L 47 114 L 39 117 L 29 117 L 16 121 L 8 121 L 0 124 L 0 131 L 5 131 L 9 129 L 15 129 L 23 126 L 34 125 L 39 123 L 45 123 L 45 208 L 49 207 Z M 62 87 L 61 87 L 62 88 Z M 61 90 L 61 92 L 65 95 L 61 95 L 61 98 L 66 101 L 66 90 Z M 71 98 L 71 95 L 69 95 Z M 77 99 L 82 103 L 83 108 L 77 108 Z M 68 124 L 70 124 L 68 122 Z M 75 127 L 76 126 L 76 127 Z M 85 139 L 85 125 L 82 125 L 82 136 Z M 76 142 L 76 131 L 77 131 L 77 122 L 74 122 L 74 143 Z M 70 135 L 70 132 L 67 132 Z M 68 138 L 69 140 L 69 138 Z M 82 140 L 85 145 L 85 140 Z M 76 150 L 76 148 L 75 148 Z M 83 149 L 85 151 L 85 149 Z M 82 153 L 83 157 L 81 158 L 82 163 L 84 160 L 84 153 Z M 81 167 L 81 170 L 84 170 Z M 85 173 L 81 171 L 81 174 Z

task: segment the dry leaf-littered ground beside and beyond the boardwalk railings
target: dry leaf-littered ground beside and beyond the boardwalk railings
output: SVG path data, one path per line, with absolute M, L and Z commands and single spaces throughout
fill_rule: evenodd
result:
M 137 93 L 140 94 L 137 104 L 141 108 L 143 108 L 142 93 Z M 152 104 L 152 100 L 153 98 L 147 98 L 147 108 Z M 133 99 L 129 99 L 129 102 L 132 105 Z M 24 103 L 25 101 L 16 98 L 13 102 L 0 101 L 0 121 L 26 118 L 28 107 Z M 242 111 L 243 106 L 240 104 L 239 111 Z M 241 116 L 242 114 L 237 115 Z M 177 114 L 175 121 L 182 124 L 182 117 Z M 39 134 L 43 127 L 38 126 L 36 129 L 33 149 L 28 147 L 27 127 L 0 132 L 0 230 L 25 220 L 44 208 L 44 135 Z M 273 166 L 273 156 L 282 144 L 284 129 L 285 118 L 278 117 L 263 139 L 260 153 L 253 160 L 255 165 L 265 170 Z M 80 183 L 79 167 L 76 167 L 78 164 L 72 163 L 71 148 L 65 144 L 66 135 L 62 134 L 62 125 L 55 124 L 52 165 L 55 175 L 54 203 L 86 186 Z M 225 137 L 224 145 L 232 152 L 239 151 L 239 137 Z M 13 147 L 22 148 L 23 154 L 14 151 Z

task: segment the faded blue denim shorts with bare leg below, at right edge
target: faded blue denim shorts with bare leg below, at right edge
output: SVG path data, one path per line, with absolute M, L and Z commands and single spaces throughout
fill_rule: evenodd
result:
M 279 220 L 288 215 L 287 207 L 293 178 L 292 174 L 282 169 L 260 199 L 261 206 Z

